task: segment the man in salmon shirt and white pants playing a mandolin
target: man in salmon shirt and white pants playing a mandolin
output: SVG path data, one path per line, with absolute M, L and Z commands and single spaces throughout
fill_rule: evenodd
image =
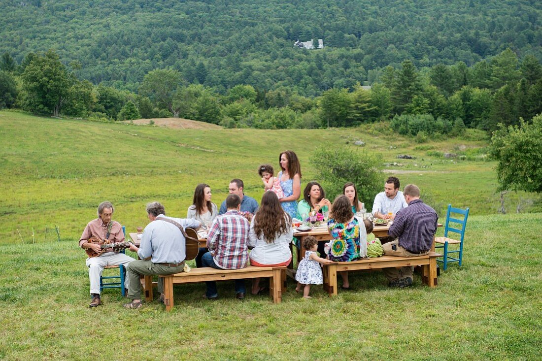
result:
M 100 299 L 100 275 L 106 266 L 127 265 L 133 261 L 119 250 L 126 247 L 108 247 L 114 243 L 124 243 L 124 233 L 119 222 L 112 221 L 113 204 L 102 202 L 98 206 L 98 218 L 88 222 L 79 240 L 79 247 L 87 250 L 88 277 L 91 280 L 92 302 L 89 307 L 102 304 Z M 105 247 L 104 247 L 105 246 Z M 107 247 L 107 248 L 106 248 Z M 125 279 L 128 288 L 128 278 Z

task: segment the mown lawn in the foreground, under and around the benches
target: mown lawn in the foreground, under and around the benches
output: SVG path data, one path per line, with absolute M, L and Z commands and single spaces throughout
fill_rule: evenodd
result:
M 175 307 L 124 310 L 118 289 L 87 305 L 85 256 L 74 242 L 1 246 L 0 359 L 539 360 L 542 356 L 542 215 L 469 217 L 464 263 L 438 287 L 386 287 L 383 274 L 351 275 L 353 291 L 311 300 L 201 299 L 176 286 Z M 442 232 L 442 230 L 441 230 Z M 247 286 L 250 283 L 247 281 Z M 156 288 L 155 288 L 156 292 Z

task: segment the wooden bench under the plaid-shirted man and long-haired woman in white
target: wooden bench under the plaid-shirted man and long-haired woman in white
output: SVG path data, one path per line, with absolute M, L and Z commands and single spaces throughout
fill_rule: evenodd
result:
M 173 285 L 205 281 L 225 281 L 247 278 L 269 277 L 269 295 L 275 304 L 282 300 L 283 285 L 286 280 L 286 267 L 255 267 L 241 269 L 216 269 L 211 267 L 192 268 L 190 272 L 160 276 L 164 279 L 164 304 L 166 311 L 173 307 Z

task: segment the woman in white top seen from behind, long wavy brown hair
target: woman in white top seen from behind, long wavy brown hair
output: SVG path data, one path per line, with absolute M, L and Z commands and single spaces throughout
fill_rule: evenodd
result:
M 260 208 L 250 223 L 248 247 L 250 265 L 257 267 L 288 266 L 292 261 L 289 243 L 292 242 L 292 218 L 282 209 L 273 192 L 265 192 Z M 254 279 L 252 294 L 260 294 L 260 279 Z

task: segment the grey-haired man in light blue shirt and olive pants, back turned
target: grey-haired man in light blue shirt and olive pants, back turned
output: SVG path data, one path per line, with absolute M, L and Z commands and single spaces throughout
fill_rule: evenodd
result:
M 151 223 L 147 224 L 143 230 L 140 248 L 130 245 L 130 250 L 137 252 L 141 261 L 133 261 L 126 267 L 128 279 L 130 279 L 128 298 L 132 299 L 132 302 L 124 305 L 126 308 L 140 308 L 143 305 L 140 275 L 167 275 L 183 272 L 186 259 L 185 229 L 201 227 L 201 222 L 196 220 L 166 217 L 164 206 L 158 202 L 147 204 L 147 216 Z M 197 249 L 196 240 L 193 257 L 196 256 Z M 158 292 L 160 300 L 163 300 L 164 280 L 160 278 Z

